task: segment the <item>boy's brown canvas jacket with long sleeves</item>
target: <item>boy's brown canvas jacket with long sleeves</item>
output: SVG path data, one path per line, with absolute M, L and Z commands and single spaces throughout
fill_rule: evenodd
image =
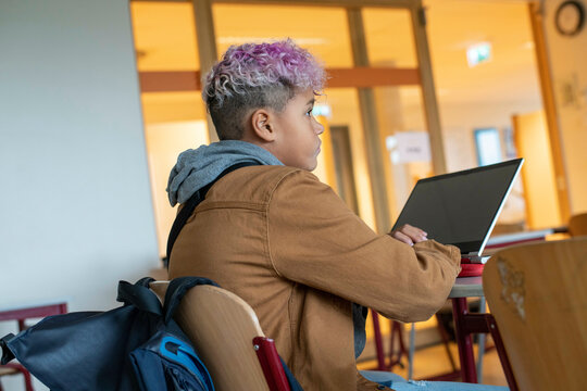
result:
M 175 242 L 170 278 L 208 277 L 247 301 L 304 390 L 376 390 L 357 371 L 351 303 L 427 319 L 459 263 L 457 248 L 375 234 L 309 172 L 253 166 L 210 189 Z

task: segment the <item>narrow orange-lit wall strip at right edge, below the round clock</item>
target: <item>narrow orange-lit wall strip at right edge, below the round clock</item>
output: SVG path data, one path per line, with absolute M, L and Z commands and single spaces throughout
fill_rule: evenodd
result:
M 587 11 L 587 1 L 579 0 Z M 545 31 L 569 181 L 571 213 L 587 212 L 587 25 L 573 37 L 554 28 L 563 0 L 545 1 Z

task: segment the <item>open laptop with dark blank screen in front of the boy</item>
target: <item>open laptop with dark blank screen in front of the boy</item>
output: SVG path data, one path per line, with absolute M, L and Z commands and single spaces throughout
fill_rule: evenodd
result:
M 428 239 L 461 249 L 472 263 L 485 263 L 483 249 L 524 159 L 420 179 L 394 229 L 409 224 Z

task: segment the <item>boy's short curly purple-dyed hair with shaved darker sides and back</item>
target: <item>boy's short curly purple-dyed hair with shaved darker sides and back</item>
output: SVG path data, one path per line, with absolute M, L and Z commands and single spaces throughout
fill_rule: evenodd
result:
M 246 116 L 257 109 L 282 112 L 309 88 L 320 94 L 324 67 L 291 39 L 232 46 L 205 78 L 202 97 L 221 140 L 239 140 Z

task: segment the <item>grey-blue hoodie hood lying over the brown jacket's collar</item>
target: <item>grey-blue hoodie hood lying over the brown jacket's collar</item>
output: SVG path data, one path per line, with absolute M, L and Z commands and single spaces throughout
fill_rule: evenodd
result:
M 184 203 L 212 182 L 226 168 L 243 162 L 284 165 L 267 150 L 246 141 L 224 140 L 184 151 L 177 157 L 167 181 L 170 203 Z

